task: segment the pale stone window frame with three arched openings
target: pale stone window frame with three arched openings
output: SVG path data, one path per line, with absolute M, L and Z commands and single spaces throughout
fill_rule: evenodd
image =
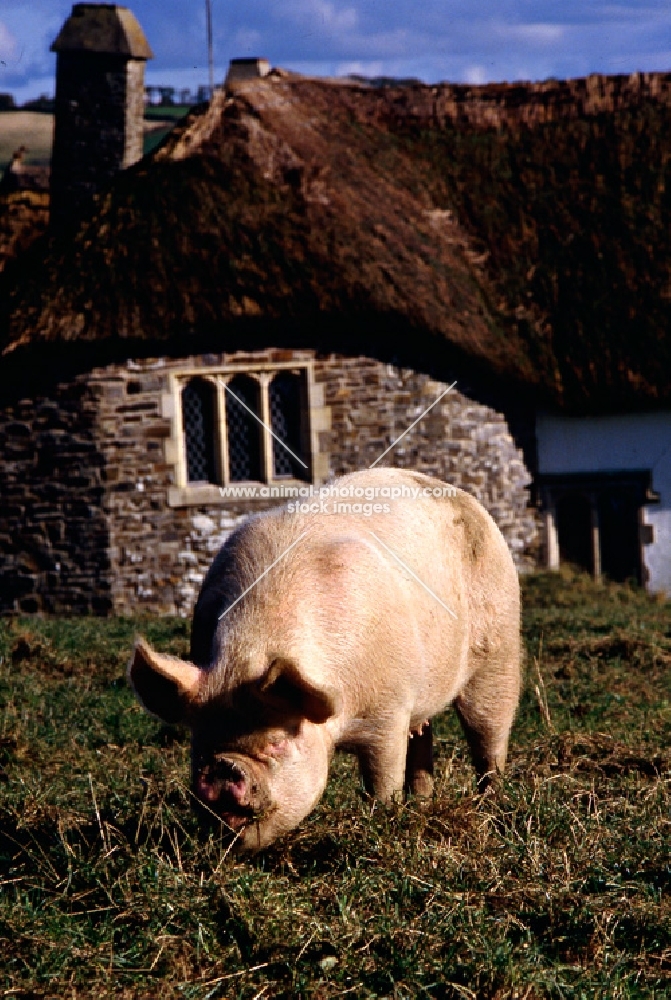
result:
M 273 378 L 280 372 L 296 372 L 303 377 L 305 399 L 301 400 L 301 412 L 305 412 L 305 428 L 301 433 L 307 447 L 308 469 L 304 479 L 274 475 L 273 437 L 270 433 L 270 396 L 269 386 Z M 261 469 L 263 478 L 260 480 L 231 480 L 228 461 L 228 439 L 226 428 L 226 389 L 225 385 L 236 375 L 245 375 L 259 384 L 261 400 L 260 419 L 264 426 L 261 430 Z M 188 481 L 186 440 L 184 434 L 182 390 L 194 378 L 201 378 L 214 385 L 215 416 L 215 464 L 219 482 L 190 483 Z M 230 498 L 222 497 L 221 488 L 228 486 L 307 486 L 316 481 L 316 457 L 318 455 L 318 432 L 320 421 L 313 419 L 315 412 L 315 396 L 317 395 L 314 379 L 314 362 L 309 359 L 296 361 L 250 362 L 246 364 L 223 364 L 190 366 L 169 373 L 169 395 L 172 399 L 171 417 L 173 423 L 172 447 L 170 448 L 172 465 L 174 466 L 174 486 L 168 491 L 170 506 L 188 504 L 223 504 Z M 319 409 L 319 407 L 318 407 Z M 321 428 L 323 429 L 323 428 Z

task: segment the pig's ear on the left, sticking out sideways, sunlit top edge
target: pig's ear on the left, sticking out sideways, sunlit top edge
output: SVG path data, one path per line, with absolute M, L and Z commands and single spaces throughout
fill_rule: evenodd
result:
M 137 639 L 128 665 L 128 680 L 152 715 L 163 722 L 183 722 L 189 702 L 200 684 L 202 671 L 176 656 L 157 653 Z

